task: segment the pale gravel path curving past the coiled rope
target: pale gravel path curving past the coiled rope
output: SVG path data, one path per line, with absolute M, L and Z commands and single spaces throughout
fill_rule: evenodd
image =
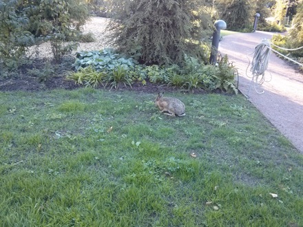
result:
M 303 153 L 303 75 L 296 72 L 282 59 L 271 54 L 266 80 L 257 91 L 251 85 L 251 72 L 246 70 L 251 54 L 262 39 L 271 39 L 274 33 L 254 32 L 224 36 L 219 44 L 222 55 L 227 54 L 229 61 L 236 65 L 240 74 L 239 89 L 244 95 L 278 129 L 289 138 L 293 145 Z M 262 136 L 262 135 L 260 135 Z

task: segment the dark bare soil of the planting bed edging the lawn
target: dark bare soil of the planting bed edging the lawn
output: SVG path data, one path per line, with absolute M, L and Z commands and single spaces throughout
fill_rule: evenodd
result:
M 67 72 L 71 72 L 71 65 L 74 62 L 73 59 L 67 59 L 63 63 L 50 63 L 45 64 L 46 60 L 36 60 L 31 64 L 23 65 L 16 72 L 10 73 L 10 76 L 3 78 L 0 76 L 0 91 L 43 91 L 45 89 L 78 89 L 83 85 L 77 85 L 74 81 L 66 80 Z M 32 73 L 32 69 L 36 70 L 36 73 Z M 99 86 L 97 89 L 110 89 L 110 87 Z M 112 88 L 115 89 L 115 88 Z M 163 84 L 155 84 L 147 81 L 146 85 L 140 82 L 134 82 L 132 87 L 125 87 L 123 83 L 118 86 L 118 91 L 132 90 L 145 93 L 154 93 L 162 91 L 180 91 L 179 87 L 169 87 Z M 194 89 L 193 93 L 206 93 L 202 89 Z M 219 92 L 219 91 L 218 91 Z

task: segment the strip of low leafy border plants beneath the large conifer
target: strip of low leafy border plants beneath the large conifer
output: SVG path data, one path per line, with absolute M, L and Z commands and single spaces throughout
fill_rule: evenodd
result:
M 220 90 L 228 93 L 238 93 L 235 85 L 236 69 L 224 56 L 216 65 L 204 65 L 198 59 L 185 55 L 182 65 L 138 65 L 133 58 L 125 58 L 112 49 L 93 52 L 79 52 L 74 63 L 76 70 L 67 76 L 79 85 L 96 87 L 102 83 L 118 89 L 119 84 L 132 87 L 132 83 L 140 81 L 146 85 L 158 83 L 167 86 L 179 87 L 183 90 L 204 89 L 206 91 Z M 92 75 L 101 74 L 97 77 L 98 83 L 92 81 Z

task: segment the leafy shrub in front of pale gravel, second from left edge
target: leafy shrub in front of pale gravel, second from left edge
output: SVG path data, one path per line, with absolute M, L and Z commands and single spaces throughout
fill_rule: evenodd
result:
M 30 23 L 28 30 L 41 41 L 50 41 L 56 61 L 76 50 L 77 43 L 68 43 L 81 36 L 80 27 L 88 19 L 88 12 L 82 0 L 42 0 L 34 3 L 23 2 Z

